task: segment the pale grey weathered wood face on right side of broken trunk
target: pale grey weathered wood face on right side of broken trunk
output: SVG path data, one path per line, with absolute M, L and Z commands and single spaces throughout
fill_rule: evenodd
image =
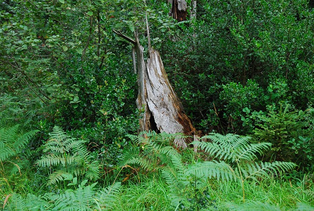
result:
M 147 104 L 153 115 L 157 130 L 160 132 L 191 134 L 195 132 L 189 118 L 184 114 L 180 100 L 174 92 L 160 54 L 152 50 L 147 59 Z M 152 118 L 151 118 L 152 119 Z M 185 148 L 186 140 L 176 139 L 178 147 Z

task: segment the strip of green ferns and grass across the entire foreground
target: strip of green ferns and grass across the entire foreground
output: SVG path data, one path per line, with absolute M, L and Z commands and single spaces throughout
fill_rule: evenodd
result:
M 250 143 L 249 136 L 211 133 L 200 139 L 210 142 L 192 143 L 198 152 L 178 152 L 169 144 L 181 134 L 129 135 L 134 145 L 104 172 L 84 142 L 60 128 L 34 164 L 21 147 L 38 131 L 0 132 L 5 211 L 314 209 L 314 176 L 295 172 L 291 162 L 262 161 L 271 144 Z

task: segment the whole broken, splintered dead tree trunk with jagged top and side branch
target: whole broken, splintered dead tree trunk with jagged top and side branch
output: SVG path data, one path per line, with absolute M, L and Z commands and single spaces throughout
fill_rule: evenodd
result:
M 168 80 L 160 54 L 150 48 L 145 62 L 144 48 L 139 43 L 136 31 L 135 40 L 121 32 L 114 32 L 134 44 L 138 82 L 136 106 L 143 111 L 143 116 L 139 120 L 140 131 L 184 133 L 193 136 L 195 128 L 183 112 L 181 102 Z M 134 59 L 134 56 L 132 57 Z M 193 137 L 177 138 L 174 144 L 186 148 L 192 140 Z

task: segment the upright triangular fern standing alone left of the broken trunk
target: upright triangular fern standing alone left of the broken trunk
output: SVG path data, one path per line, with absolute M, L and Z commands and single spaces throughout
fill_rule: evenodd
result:
M 100 164 L 90 155 L 84 143 L 84 140 L 70 137 L 57 126 L 53 128 L 44 145 L 46 155 L 36 161 L 39 166 L 54 170 L 47 185 L 64 181 L 69 174 L 89 180 L 99 178 Z

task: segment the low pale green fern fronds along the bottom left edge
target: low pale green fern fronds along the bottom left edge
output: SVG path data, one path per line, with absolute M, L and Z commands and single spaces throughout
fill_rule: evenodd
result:
M 83 181 L 76 190 L 67 189 L 62 194 L 46 193 L 44 196 L 27 194 L 23 198 L 20 194 L 9 195 L 3 205 L 3 211 L 95 211 L 110 210 L 120 192 L 121 184 L 116 183 L 100 190 L 95 189 L 94 183 L 87 185 Z

